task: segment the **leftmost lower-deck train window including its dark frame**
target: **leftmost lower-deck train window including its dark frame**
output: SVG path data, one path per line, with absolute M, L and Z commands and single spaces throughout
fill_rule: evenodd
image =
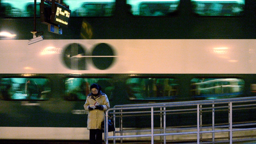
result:
M 20 88 L 18 88 L 18 89 L 20 89 L 21 91 L 15 91 L 15 93 L 13 94 L 13 95 L 11 95 L 11 97 L 13 97 L 16 93 L 17 93 L 17 95 L 15 95 L 16 97 L 18 97 L 18 98 L 6 98 L 8 95 L 6 94 L 3 94 L 3 92 L 4 91 L 6 91 L 5 90 L 5 88 L 4 88 L 4 90 L 3 90 L 3 80 L 4 79 L 26 79 L 26 81 L 25 81 L 25 83 L 18 83 L 17 84 L 17 81 L 22 81 L 22 80 L 16 80 L 16 83 L 14 84 L 14 83 L 12 83 L 12 86 L 11 87 L 9 87 L 8 85 L 7 85 L 7 92 L 8 92 L 8 94 L 9 94 L 9 90 L 10 89 L 12 89 L 11 90 L 11 92 L 10 93 L 13 93 L 14 92 L 14 90 L 17 90 L 17 85 L 19 85 L 19 87 Z M 38 83 L 38 81 L 35 81 L 35 79 L 39 79 L 38 81 L 40 81 L 40 79 L 42 79 L 42 80 L 44 80 L 45 81 L 45 84 L 43 84 L 43 86 L 45 86 L 45 88 L 46 88 L 46 90 L 44 90 L 44 91 L 40 91 L 40 85 L 39 84 L 37 84 Z M 24 80 L 23 80 L 24 81 Z M 34 83 L 34 85 L 36 85 L 36 91 L 37 92 L 40 92 L 40 98 L 39 99 L 36 99 L 36 98 L 33 98 L 33 97 L 36 97 L 35 95 L 35 93 L 32 93 L 31 95 L 32 95 L 32 98 L 26 98 L 26 99 L 24 99 L 25 97 L 30 97 L 28 94 L 27 94 L 27 88 L 28 88 L 28 83 L 30 83 L 30 84 L 32 84 L 32 83 Z M 25 84 L 24 86 L 22 86 L 23 84 Z M 16 86 L 15 86 L 16 85 Z M 13 87 L 13 88 L 12 88 Z M 15 88 L 16 87 L 16 88 Z M 23 90 L 23 88 L 24 88 L 24 91 L 22 91 Z M 29 90 L 28 90 L 28 92 L 29 92 Z M 34 94 L 34 95 L 33 95 Z M 39 94 L 39 93 L 37 93 L 37 94 Z M 1 79 L 0 79 L 0 100 L 8 100 L 8 101 L 46 101 L 46 100 L 49 100 L 50 99 L 50 97 L 51 97 L 51 95 L 52 95 L 52 85 L 51 85 L 51 81 L 50 81 L 50 79 L 49 78 L 47 78 L 47 77 L 2 77 Z M 9 97 L 9 96 L 8 96 Z M 23 98 L 23 99 L 22 99 Z

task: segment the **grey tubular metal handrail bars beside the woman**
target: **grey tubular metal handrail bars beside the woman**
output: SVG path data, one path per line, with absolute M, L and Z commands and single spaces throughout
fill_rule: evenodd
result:
M 113 136 L 108 136 L 108 132 L 105 132 L 105 141 L 106 144 L 108 144 L 109 139 L 113 139 L 114 143 L 116 139 L 120 138 L 120 141 L 122 143 L 123 138 L 132 138 L 132 137 L 151 137 L 151 143 L 154 143 L 154 137 L 160 136 L 161 141 L 164 141 L 164 144 L 166 144 L 166 136 L 168 135 L 187 135 L 187 134 L 196 134 L 196 143 L 203 143 L 202 141 L 202 134 L 204 133 L 212 133 L 212 142 L 215 140 L 214 133 L 218 132 L 229 132 L 229 142 L 232 144 L 233 141 L 233 132 L 237 131 L 249 131 L 249 130 L 256 130 L 256 128 L 239 128 L 239 129 L 233 129 L 234 127 L 238 126 L 256 126 L 256 123 L 240 123 L 240 124 L 235 124 L 233 123 L 233 111 L 239 110 L 239 109 L 255 109 L 256 104 L 247 104 L 248 102 L 255 102 L 256 97 L 246 97 L 246 98 L 232 98 L 232 99 L 219 99 L 219 100 L 201 100 L 201 101 L 187 101 L 187 102 L 168 102 L 168 103 L 150 103 L 150 104 L 131 104 L 131 105 L 116 105 L 114 108 L 110 108 L 106 111 L 105 115 L 105 122 L 108 121 L 108 113 L 110 111 L 113 114 L 113 119 L 114 123 L 116 123 L 115 119 L 116 117 L 119 117 L 120 120 L 120 131 L 113 132 Z M 228 106 L 217 106 L 218 104 L 228 104 Z M 204 106 L 204 108 L 202 107 Z M 185 107 L 185 108 L 184 108 Z M 239 108 L 241 107 L 241 108 Z M 158 109 L 160 108 L 160 110 Z M 171 110 L 166 110 L 166 108 L 172 108 Z M 234 108 L 234 109 L 233 109 Z M 236 109 L 235 109 L 236 108 Z M 212 125 L 211 126 L 204 126 L 202 124 L 202 114 L 205 112 L 205 110 L 209 109 L 209 111 L 212 111 Z M 214 116 L 215 113 L 214 111 L 217 111 L 215 109 L 221 109 L 221 110 L 226 110 L 228 111 L 228 121 L 229 124 L 222 124 L 220 126 L 216 126 L 214 124 Z M 127 111 L 128 110 L 128 111 Z M 116 112 L 117 111 L 117 112 Z M 173 114 L 172 112 L 183 112 L 183 113 L 191 113 L 195 112 L 197 113 L 196 117 L 196 127 L 182 127 L 182 128 L 176 128 L 175 130 L 179 131 L 184 131 L 184 130 L 196 130 L 192 132 L 172 132 L 172 133 L 167 133 L 169 131 L 175 131 L 174 129 L 166 128 L 166 112 L 170 112 L 170 114 Z M 207 112 L 209 112 L 207 111 Z M 145 113 L 150 113 L 151 115 L 151 130 L 150 129 L 143 129 L 140 128 L 138 130 L 129 130 L 129 129 L 124 129 L 122 126 L 122 117 L 124 116 L 136 116 L 138 114 L 145 114 Z M 169 113 L 168 113 L 169 114 Z M 117 116 L 116 116 L 117 115 Z M 148 114 L 147 114 L 148 115 Z M 160 128 L 154 127 L 154 115 L 160 115 L 161 116 L 161 126 Z M 164 118 L 162 118 L 162 116 Z M 163 120 L 163 125 L 162 125 L 162 120 Z M 105 131 L 108 131 L 108 125 L 105 124 L 106 128 Z M 215 130 L 217 129 L 218 130 Z M 221 128 L 221 129 L 220 129 Z M 207 129 L 212 129 L 211 131 Z M 220 130 L 219 130 L 220 129 Z M 151 132 L 151 134 L 136 134 L 136 135 L 123 135 L 123 133 L 131 133 L 131 132 Z M 160 132 L 160 133 L 156 133 Z M 120 133 L 119 136 L 116 135 L 116 133 Z M 164 137 L 164 140 L 162 138 Z M 254 138 L 250 138 L 252 140 Z M 256 138 L 255 138 L 256 140 Z M 237 140 L 234 140 L 237 141 Z M 209 141 L 208 141 L 209 142 Z M 219 141 L 218 141 L 219 142 Z M 227 142 L 227 141 L 226 141 Z

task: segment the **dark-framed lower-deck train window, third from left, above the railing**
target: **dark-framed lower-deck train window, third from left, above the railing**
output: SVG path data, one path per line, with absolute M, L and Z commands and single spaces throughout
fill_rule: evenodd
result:
M 132 85 L 129 86 L 129 84 L 127 84 L 127 81 L 130 80 L 130 79 L 136 79 L 136 78 L 140 78 L 144 79 L 144 82 L 140 83 L 140 86 L 142 84 L 145 84 L 145 80 L 148 79 L 148 80 L 153 80 L 154 84 L 152 85 L 152 93 L 150 92 L 149 90 L 149 87 L 148 87 L 148 91 L 146 91 L 146 84 L 145 84 L 145 89 L 144 89 L 144 85 L 143 85 L 143 88 L 140 89 L 141 93 L 140 94 L 140 97 L 134 95 L 134 93 L 132 93 Z M 161 80 L 161 82 L 160 82 Z M 168 80 L 168 81 L 167 81 Z M 173 84 L 170 82 L 173 81 Z M 158 85 L 157 86 L 157 83 L 158 84 L 162 84 L 162 91 L 158 88 L 158 87 L 161 87 L 161 85 Z M 164 84 L 168 85 L 167 89 L 164 90 Z M 175 85 L 175 88 L 176 89 L 172 89 L 172 86 Z M 179 91 L 180 91 L 180 80 L 176 77 L 129 77 L 125 80 L 125 90 L 126 90 L 126 93 L 128 95 L 128 100 L 130 101 L 145 101 L 145 102 L 150 102 L 150 101 L 174 101 L 178 98 L 179 96 Z M 158 91 L 157 90 L 160 90 L 159 93 L 157 93 Z M 153 95 L 153 97 L 148 97 L 148 98 L 144 98 L 146 97 L 148 93 L 148 96 L 149 95 Z M 172 95 L 171 95 L 172 93 Z M 176 93 L 176 94 L 174 94 Z M 143 95 L 142 95 L 143 94 Z M 162 95 L 162 96 L 161 96 Z M 164 95 L 168 95 L 168 96 L 164 96 Z M 142 98 L 142 99 L 138 99 L 138 98 Z

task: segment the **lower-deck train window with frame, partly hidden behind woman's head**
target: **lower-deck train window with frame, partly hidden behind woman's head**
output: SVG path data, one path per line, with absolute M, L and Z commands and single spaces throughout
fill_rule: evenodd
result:
M 81 82 L 82 84 L 83 83 L 88 83 L 86 84 L 86 89 L 85 89 L 85 94 L 83 94 L 83 89 L 81 88 L 82 87 L 82 84 L 80 85 L 75 85 L 74 88 L 72 89 L 72 92 L 68 93 L 67 91 L 70 91 L 68 90 L 67 88 L 67 79 L 80 79 L 81 81 L 84 79 L 97 79 L 97 82 L 93 82 L 95 84 L 99 84 L 102 88 L 102 92 L 105 93 L 108 97 L 108 100 L 110 100 L 110 95 L 114 89 L 114 83 L 113 83 L 113 78 L 112 77 L 76 77 L 76 76 L 70 76 L 70 77 L 66 77 L 64 78 L 64 85 L 65 85 L 65 89 L 64 89 L 64 99 L 67 100 L 67 101 L 86 101 L 86 98 L 88 96 L 90 92 L 90 86 L 91 84 L 93 84 L 92 82 L 88 82 L 88 81 L 83 81 Z M 101 80 L 101 83 L 99 83 L 98 81 Z M 103 80 L 108 80 L 107 82 L 110 84 L 110 86 L 106 87 L 106 85 L 103 84 Z M 106 82 L 106 83 L 107 83 Z M 72 82 L 73 83 L 73 82 Z M 108 92 L 106 91 L 106 88 L 108 89 Z M 74 91 L 74 92 L 73 92 Z M 84 97 L 84 99 L 82 98 L 79 98 L 79 97 Z

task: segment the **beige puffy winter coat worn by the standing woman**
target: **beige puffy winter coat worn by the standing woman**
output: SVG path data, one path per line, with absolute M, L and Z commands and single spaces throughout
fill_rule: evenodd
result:
M 90 93 L 85 101 L 84 104 L 84 109 L 86 111 L 89 111 L 88 113 L 88 119 L 87 119 L 87 130 L 90 129 L 101 129 L 101 122 L 104 121 L 104 116 L 105 116 L 105 111 L 108 110 L 108 108 L 110 108 L 109 106 L 109 101 L 108 101 L 108 97 L 105 93 L 101 93 L 100 95 L 97 96 L 97 98 L 94 100 L 92 98 L 92 94 Z M 93 105 L 96 101 L 99 102 L 100 105 L 103 106 L 103 110 L 100 109 L 93 109 L 93 110 L 89 110 L 88 107 L 90 105 Z

